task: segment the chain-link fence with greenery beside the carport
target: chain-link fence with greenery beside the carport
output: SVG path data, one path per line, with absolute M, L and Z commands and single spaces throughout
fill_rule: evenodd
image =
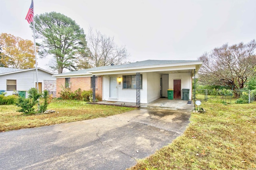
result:
M 194 93 L 194 90 L 192 92 Z M 196 89 L 196 100 L 224 103 L 251 103 L 256 100 L 256 90 Z

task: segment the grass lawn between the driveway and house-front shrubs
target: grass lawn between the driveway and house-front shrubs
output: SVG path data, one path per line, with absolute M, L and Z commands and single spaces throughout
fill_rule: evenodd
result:
M 53 100 L 48 109 L 55 110 L 54 113 L 23 115 L 16 112 L 17 109 L 15 105 L 0 106 L 0 132 L 106 117 L 134 108 L 91 105 L 74 100 Z

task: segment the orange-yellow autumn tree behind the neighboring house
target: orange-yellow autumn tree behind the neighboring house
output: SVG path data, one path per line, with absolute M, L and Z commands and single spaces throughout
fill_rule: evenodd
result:
M 0 47 L 2 48 L 0 53 L 1 66 L 22 69 L 34 68 L 35 55 L 32 41 L 1 33 Z

